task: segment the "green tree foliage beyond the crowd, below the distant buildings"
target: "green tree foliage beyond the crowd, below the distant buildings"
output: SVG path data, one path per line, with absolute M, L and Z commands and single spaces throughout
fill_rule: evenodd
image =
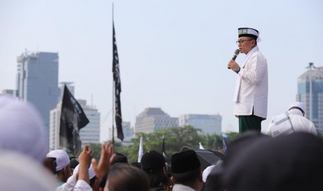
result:
M 140 137 L 142 137 L 143 140 L 142 145 L 145 153 L 152 149 L 157 152 L 162 152 L 164 136 L 166 154 L 169 157 L 172 156 L 172 154 L 179 152 L 183 146 L 199 149 L 199 142 L 201 142 L 205 149 L 221 151 L 223 147 L 222 135 L 203 134 L 201 129 L 197 129 L 192 126 L 185 126 L 160 129 L 150 134 L 136 134 L 136 137 L 131 140 L 131 145 L 122 145 L 119 142 L 115 143 L 114 152 L 126 155 L 129 162 L 136 162 L 138 161 Z M 239 134 L 236 132 L 228 132 L 226 133 L 226 136 L 229 137 L 229 140 L 226 142 L 229 144 L 232 140 L 237 138 Z M 98 152 L 101 153 L 101 146 L 98 148 Z M 97 155 L 97 148 L 93 149 L 93 153 L 94 157 L 99 157 L 99 155 Z

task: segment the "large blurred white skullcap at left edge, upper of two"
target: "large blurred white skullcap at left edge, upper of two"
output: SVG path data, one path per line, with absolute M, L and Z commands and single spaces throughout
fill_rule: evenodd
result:
M 43 162 L 49 143 L 38 111 L 28 102 L 0 96 L 0 149 L 22 152 Z

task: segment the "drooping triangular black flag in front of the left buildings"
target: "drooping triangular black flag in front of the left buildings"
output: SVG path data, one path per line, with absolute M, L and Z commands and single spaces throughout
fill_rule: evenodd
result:
M 72 156 L 81 152 L 78 131 L 89 122 L 80 104 L 71 92 L 64 87 L 62 111 L 60 114 L 60 148 Z

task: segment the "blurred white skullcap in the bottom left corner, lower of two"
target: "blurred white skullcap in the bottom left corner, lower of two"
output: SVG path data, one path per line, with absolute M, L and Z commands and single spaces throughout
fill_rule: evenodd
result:
M 0 190 L 52 191 L 56 178 L 42 164 L 21 152 L 0 152 Z

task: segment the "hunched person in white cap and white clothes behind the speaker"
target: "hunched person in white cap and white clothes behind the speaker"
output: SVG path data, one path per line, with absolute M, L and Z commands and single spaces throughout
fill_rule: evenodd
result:
M 317 136 L 313 122 L 305 116 L 305 106 L 302 102 L 292 102 L 289 110 L 274 116 L 267 129 L 267 134 L 273 137 L 304 131 Z

